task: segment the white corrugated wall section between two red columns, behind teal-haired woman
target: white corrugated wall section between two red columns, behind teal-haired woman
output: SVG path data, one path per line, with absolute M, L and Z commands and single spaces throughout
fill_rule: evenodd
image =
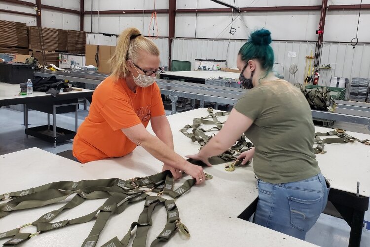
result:
M 232 40 L 228 48 L 227 40 L 203 40 L 203 39 L 179 39 L 172 41 L 173 60 L 190 61 L 191 68 L 195 69 L 196 58 L 223 59 L 227 58 L 227 67 L 236 67 L 236 57 L 240 47 L 246 42 Z M 316 42 L 299 41 L 273 41 L 271 43 L 275 54 L 275 70 L 284 75 L 284 79 L 290 82 L 303 82 L 306 66 L 306 55 L 310 55 L 311 49 L 315 51 Z M 288 57 L 288 51 L 295 51 L 296 57 Z M 298 67 L 296 77 L 289 74 L 289 67 L 295 63 Z M 307 65 L 308 66 L 308 65 Z

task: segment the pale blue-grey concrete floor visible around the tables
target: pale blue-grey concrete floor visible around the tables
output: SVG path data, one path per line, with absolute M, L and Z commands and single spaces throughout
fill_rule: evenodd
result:
M 78 111 L 78 125 L 82 123 L 88 111 Z M 171 112 L 166 111 L 169 115 Z M 52 120 L 51 120 L 52 122 Z M 57 115 L 57 126 L 74 129 L 74 113 Z M 72 140 L 59 143 L 56 148 L 38 138 L 26 138 L 24 133 L 23 112 L 10 108 L 0 108 L 0 155 L 31 147 L 38 147 L 51 153 L 59 153 L 72 149 Z M 47 124 L 47 114 L 29 111 L 30 127 Z M 336 122 L 333 127 L 348 131 L 370 134 L 367 126 Z M 370 221 L 370 212 L 365 214 L 365 220 Z M 370 223 L 368 228 L 370 229 Z M 307 233 L 306 241 L 323 247 L 347 247 L 350 228 L 342 219 L 322 214 L 314 227 Z M 361 247 L 370 247 L 370 230 L 363 229 Z

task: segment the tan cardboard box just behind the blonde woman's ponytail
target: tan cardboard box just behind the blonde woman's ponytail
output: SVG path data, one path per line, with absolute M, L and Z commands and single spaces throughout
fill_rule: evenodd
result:
M 98 48 L 99 46 L 99 48 Z M 98 67 L 98 72 L 102 73 L 111 73 L 111 65 L 109 60 L 113 55 L 115 46 L 108 45 L 95 45 L 95 44 L 86 44 L 86 66 L 94 65 Z M 98 51 L 98 62 L 97 65 L 95 57 Z

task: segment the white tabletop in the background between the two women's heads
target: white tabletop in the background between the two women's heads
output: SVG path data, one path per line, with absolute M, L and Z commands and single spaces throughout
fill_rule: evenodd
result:
M 166 75 L 178 76 L 178 77 L 188 77 L 188 78 L 200 78 L 200 79 L 210 79 L 219 77 L 239 79 L 240 73 L 227 72 L 227 71 L 215 71 L 215 70 L 194 70 L 194 71 L 165 71 L 161 74 L 163 77 Z

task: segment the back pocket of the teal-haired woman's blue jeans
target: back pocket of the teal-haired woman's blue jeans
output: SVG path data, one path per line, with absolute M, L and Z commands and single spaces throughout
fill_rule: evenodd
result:
M 319 218 L 322 209 L 322 197 L 315 200 L 302 200 L 288 197 L 291 226 L 300 231 L 307 232 Z

